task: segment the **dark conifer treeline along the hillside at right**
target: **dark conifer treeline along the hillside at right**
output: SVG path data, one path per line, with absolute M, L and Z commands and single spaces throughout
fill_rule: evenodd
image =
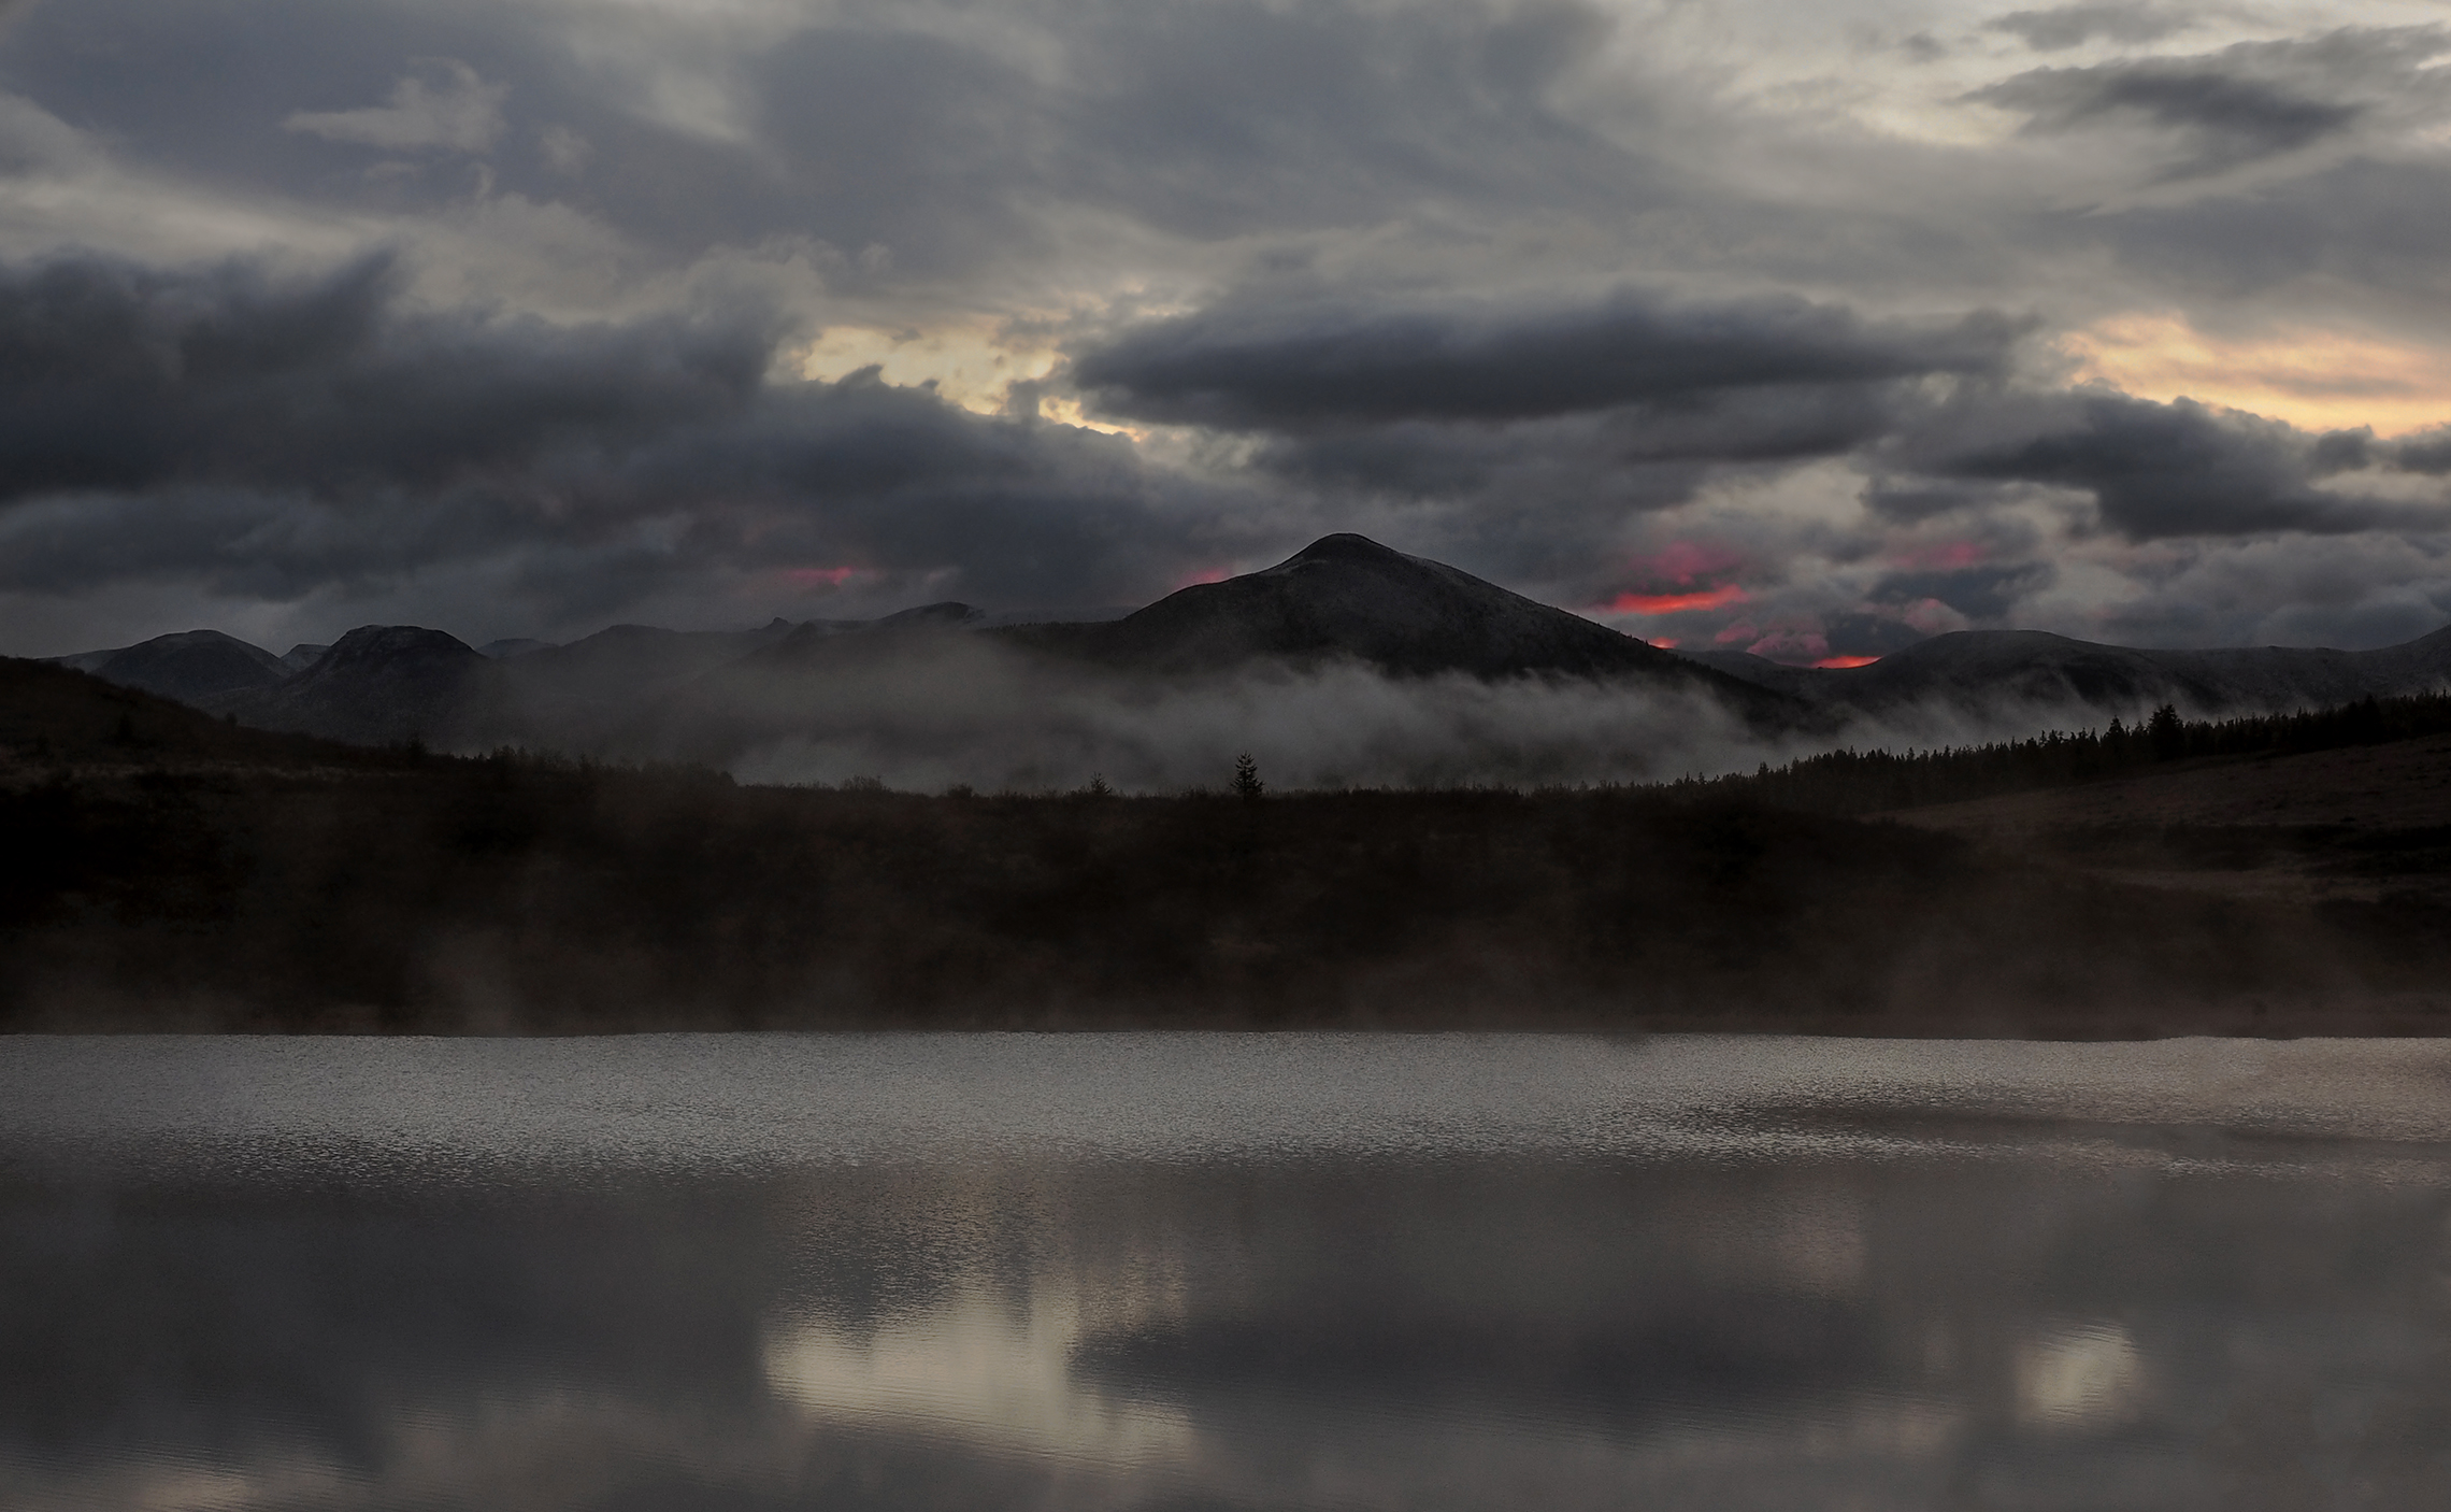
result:
M 2037 787 L 2127 777 L 2157 762 L 2191 757 L 2299 755 L 2451 733 L 2451 694 L 2363 698 L 2306 713 L 2189 720 L 2162 706 L 2147 723 L 2105 730 L 2051 730 L 2029 740 L 1939 750 L 1831 750 L 1784 767 L 1728 777 L 1684 777 L 1679 796 L 1748 796 L 1806 814 L 1880 814 L 1922 804 L 1988 799 Z

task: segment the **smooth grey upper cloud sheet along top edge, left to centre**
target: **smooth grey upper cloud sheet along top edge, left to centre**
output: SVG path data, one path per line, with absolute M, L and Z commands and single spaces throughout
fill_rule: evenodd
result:
M 69 10 L 20 22 L 0 81 L 137 159 L 434 211 L 468 194 L 458 149 L 500 191 L 664 255 L 811 235 L 885 245 L 904 274 L 980 277 L 1049 255 L 1056 208 L 1208 240 L 1436 201 L 1478 218 L 1659 196 L 1652 164 L 1549 105 L 1608 32 L 1581 5 L 1017 2 L 917 25 L 811 7 L 738 56 L 652 7 L 591 20 L 581 44 L 549 15 L 473 5 L 260 5 L 238 25 L 137 0 Z M 654 108 L 691 54 L 706 123 Z

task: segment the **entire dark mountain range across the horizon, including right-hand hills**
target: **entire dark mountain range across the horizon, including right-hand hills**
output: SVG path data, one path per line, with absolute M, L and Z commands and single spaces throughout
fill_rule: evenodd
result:
M 1358 534 L 1132 613 L 1015 620 L 936 603 L 882 620 L 772 620 L 738 632 L 615 625 L 571 644 L 483 649 L 441 630 L 368 625 L 287 654 L 189 630 L 56 662 L 265 730 L 711 762 L 789 738 L 811 711 L 841 723 L 858 718 L 863 698 L 929 686 L 980 698 L 993 676 L 1037 679 L 1039 691 L 1051 679 L 1145 686 L 1333 664 L 1400 681 L 1532 676 L 1706 696 L 1765 735 L 1833 733 L 1858 716 L 1904 711 L 2042 728 L 2135 718 L 2159 703 L 2223 716 L 2451 689 L 2451 627 L 2373 652 L 2162 652 L 1971 630 L 1860 669 L 1669 652 Z

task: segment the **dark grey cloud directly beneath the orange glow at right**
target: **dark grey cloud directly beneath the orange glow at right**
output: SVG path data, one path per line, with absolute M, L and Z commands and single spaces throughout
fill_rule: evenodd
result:
M 2007 434 L 1966 434 L 1990 426 Z M 1900 451 L 1907 456 L 1907 471 L 1926 478 L 2086 490 L 2101 522 L 2137 542 L 2446 522 L 2441 507 L 2324 493 L 2314 488 L 2314 436 L 2194 399 L 2157 404 L 2105 390 L 1968 404 L 1931 417 Z

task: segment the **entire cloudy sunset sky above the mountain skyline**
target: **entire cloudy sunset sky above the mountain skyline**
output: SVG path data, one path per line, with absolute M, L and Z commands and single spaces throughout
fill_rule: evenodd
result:
M 1137 605 L 2451 620 L 2397 0 L 17 0 L 0 652 Z

